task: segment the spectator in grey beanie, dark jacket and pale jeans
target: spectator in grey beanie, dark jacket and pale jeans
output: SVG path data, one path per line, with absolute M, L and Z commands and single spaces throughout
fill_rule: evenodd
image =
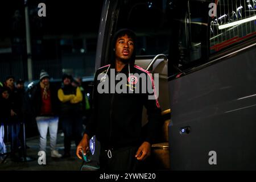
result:
M 51 157 L 61 158 L 62 155 L 56 150 L 59 123 L 57 89 L 50 84 L 46 71 L 42 70 L 39 78 L 40 82 L 31 90 L 33 113 L 40 134 L 39 148 L 40 151 L 47 152 L 47 131 L 49 129 Z

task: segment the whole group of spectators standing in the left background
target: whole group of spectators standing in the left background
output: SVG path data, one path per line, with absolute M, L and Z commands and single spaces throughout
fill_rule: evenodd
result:
M 85 111 L 89 101 L 82 88 L 81 78 L 63 75 L 61 88 L 49 81 L 49 74 L 42 70 L 39 82 L 32 86 L 29 97 L 22 79 L 7 76 L 0 82 L 0 163 L 10 154 L 12 160 L 20 160 L 26 148 L 23 136 L 23 123 L 26 113 L 30 113 L 39 132 L 39 151 L 47 152 L 47 133 L 49 130 L 52 158 L 71 157 L 71 141 L 79 144 L 83 129 Z M 30 106 L 28 106 L 30 105 Z M 56 149 L 59 121 L 64 133 L 64 154 Z M 6 142 L 11 149 L 7 151 Z

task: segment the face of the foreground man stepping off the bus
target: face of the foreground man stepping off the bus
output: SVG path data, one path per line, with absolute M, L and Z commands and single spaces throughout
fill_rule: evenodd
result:
M 115 59 L 126 62 L 133 55 L 134 42 L 127 35 L 121 36 L 115 42 Z

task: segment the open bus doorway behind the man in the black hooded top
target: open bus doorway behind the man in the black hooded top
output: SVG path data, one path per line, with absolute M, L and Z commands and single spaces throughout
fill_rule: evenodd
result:
M 156 168 L 169 169 L 168 123 L 170 123 L 170 102 L 168 92 L 168 51 L 170 45 L 170 19 L 167 18 L 170 9 L 168 1 L 106 1 L 102 9 L 101 25 L 98 35 L 96 68 L 109 64 L 110 40 L 114 32 L 121 28 L 130 28 L 137 35 L 135 64 L 153 76 L 158 73 L 155 81 L 159 82 L 159 104 L 163 111 L 164 122 L 161 140 L 154 146 Z M 146 109 L 143 109 L 142 126 L 147 123 Z M 154 150 L 154 149 L 153 149 Z M 164 158 L 160 158 L 163 155 Z M 154 153 L 154 152 L 153 152 Z

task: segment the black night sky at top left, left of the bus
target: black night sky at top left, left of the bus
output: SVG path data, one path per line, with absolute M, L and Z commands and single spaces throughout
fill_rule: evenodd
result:
M 46 17 L 38 16 L 38 4 L 46 4 Z M 31 34 L 81 34 L 98 32 L 102 9 L 100 1 L 57 1 L 57 0 L 30 0 Z M 16 14 L 15 11 L 19 11 Z M 0 37 L 24 35 L 24 1 L 8 0 L 0 3 Z

